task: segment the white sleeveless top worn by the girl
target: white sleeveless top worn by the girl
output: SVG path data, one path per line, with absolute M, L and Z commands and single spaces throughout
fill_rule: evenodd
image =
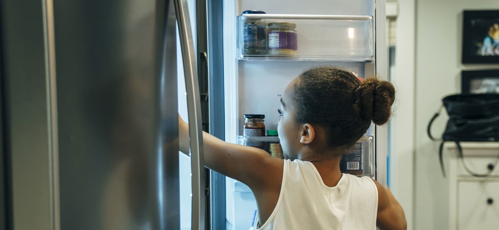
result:
M 250 230 L 376 230 L 377 210 L 370 178 L 343 174 L 327 187 L 312 163 L 284 160 L 277 205 L 265 223 L 256 214 Z

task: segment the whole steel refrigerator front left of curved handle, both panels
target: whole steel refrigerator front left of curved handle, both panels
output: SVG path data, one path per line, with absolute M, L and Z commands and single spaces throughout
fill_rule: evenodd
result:
M 173 1 L 1 4 L 14 230 L 179 229 Z

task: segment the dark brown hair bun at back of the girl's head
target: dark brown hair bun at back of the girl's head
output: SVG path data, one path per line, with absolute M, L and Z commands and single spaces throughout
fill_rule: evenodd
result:
M 355 110 L 376 125 L 388 122 L 395 101 L 395 87 L 388 81 L 367 78 L 355 90 Z

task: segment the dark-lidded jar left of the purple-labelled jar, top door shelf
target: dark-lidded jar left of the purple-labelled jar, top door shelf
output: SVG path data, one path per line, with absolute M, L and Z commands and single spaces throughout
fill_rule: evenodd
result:
M 246 10 L 243 14 L 265 13 L 261 10 Z M 266 23 L 259 19 L 243 21 L 243 55 L 267 54 Z

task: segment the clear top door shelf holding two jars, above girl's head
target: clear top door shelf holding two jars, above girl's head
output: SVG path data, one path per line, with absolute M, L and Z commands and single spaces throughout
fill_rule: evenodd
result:
M 373 26 L 372 16 L 241 14 L 237 18 L 237 58 L 370 62 L 374 58 Z

